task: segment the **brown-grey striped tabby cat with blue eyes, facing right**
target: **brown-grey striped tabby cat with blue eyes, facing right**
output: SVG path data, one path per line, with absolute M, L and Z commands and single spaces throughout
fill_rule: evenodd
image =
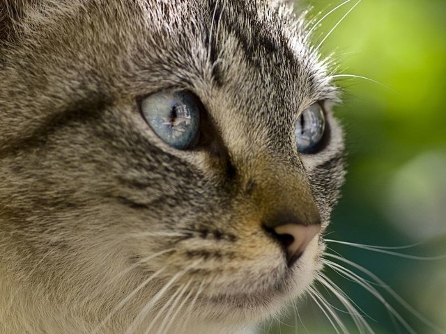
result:
M 307 291 L 345 169 L 305 13 L 0 6 L 0 333 L 245 333 Z

